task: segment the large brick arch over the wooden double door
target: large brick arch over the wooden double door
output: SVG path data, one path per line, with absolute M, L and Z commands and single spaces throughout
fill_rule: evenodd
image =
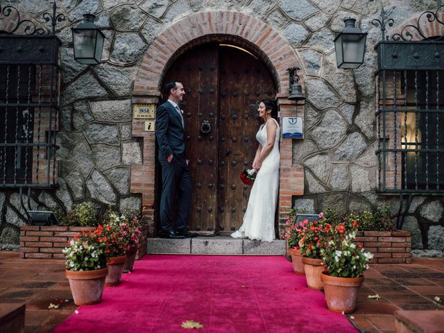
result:
M 290 44 L 261 20 L 231 11 L 198 12 L 160 33 L 137 71 L 133 94 L 158 96 L 171 62 L 187 49 L 205 42 L 233 42 L 246 47 L 268 67 L 280 96 L 288 96 L 287 69 L 299 65 Z

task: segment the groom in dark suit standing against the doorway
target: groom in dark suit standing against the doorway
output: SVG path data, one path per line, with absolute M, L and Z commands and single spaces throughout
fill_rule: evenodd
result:
M 182 83 L 172 81 L 165 87 L 168 101 L 157 108 L 155 136 L 159 145 L 162 165 L 162 196 L 160 198 L 160 237 L 180 239 L 193 237 L 187 221 L 191 206 L 191 179 L 188 160 L 185 158 L 185 123 L 179 103 L 185 95 Z M 173 224 L 173 200 L 178 195 L 177 221 Z

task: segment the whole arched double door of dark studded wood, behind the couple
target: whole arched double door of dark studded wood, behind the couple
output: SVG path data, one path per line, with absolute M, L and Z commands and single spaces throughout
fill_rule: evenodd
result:
M 164 83 L 170 80 L 182 82 L 186 92 L 181 108 L 193 184 L 189 228 L 238 230 L 250 194 L 239 174 L 253 163 L 257 106 L 275 99 L 273 78 L 251 53 L 209 43 L 180 56 Z

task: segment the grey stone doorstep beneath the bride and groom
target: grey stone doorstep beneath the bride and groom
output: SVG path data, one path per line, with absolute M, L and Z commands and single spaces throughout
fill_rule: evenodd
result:
M 147 252 L 181 255 L 285 255 L 285 241 L 252 241 L 226 236 L 185 239 L 150 238 Z

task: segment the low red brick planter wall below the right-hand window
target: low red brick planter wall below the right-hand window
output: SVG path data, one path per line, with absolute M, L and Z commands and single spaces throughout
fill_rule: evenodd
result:
M 358 232 L 355 243 L 373 254 L 370 264 L 411 264 L 411 234 L 405 230 Z

